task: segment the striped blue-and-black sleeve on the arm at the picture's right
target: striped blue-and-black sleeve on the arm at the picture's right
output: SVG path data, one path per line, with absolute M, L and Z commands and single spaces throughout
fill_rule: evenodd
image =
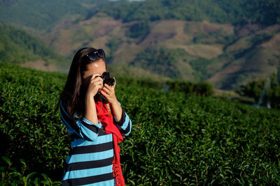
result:
M 125 111 L 122 111 L 120 121 L 117 121 L 116 117 L 114 116 L 113 123 L 115 123 L 115 125 L 120 130 L 120 134 L 123 134 L 124 136 L 130 134 L 132 128 L 132 121 L 130 120 L 130 117 L 125 113 Z

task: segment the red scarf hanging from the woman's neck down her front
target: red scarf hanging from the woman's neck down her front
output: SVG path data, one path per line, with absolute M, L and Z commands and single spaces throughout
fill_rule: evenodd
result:
M 118 143 L 123 141 L 123 136 L 120 134 L 118 127 L 113 123 L 113 115 L 110 109 L 111 105 L 109 106 L 109 104 L 95 101 L 95 106 L 97 108 L 97 118 L 104 126 L 105 133 L 113 134 L 113 176 L 116 180 L 116 185 L 124 186 L 125 179 L 123 178 L 122 168 L 120 167 L 120 148 L 118 147 Z

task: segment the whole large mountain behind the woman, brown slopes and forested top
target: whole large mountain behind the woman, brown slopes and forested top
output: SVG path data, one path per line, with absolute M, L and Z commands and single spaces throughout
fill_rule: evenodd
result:
M 104 48 L 110 70 L 121 75 L 209 81 L 230 90 L 280 65 L 279 1 L 44 1 L 36 11 L 41 1 L 20 6 L 25 1 L 0 1 L 8 10 L 1 21 L 69 59 L 80 47 Z M 11 15 L 15 10 L 26 16 Z

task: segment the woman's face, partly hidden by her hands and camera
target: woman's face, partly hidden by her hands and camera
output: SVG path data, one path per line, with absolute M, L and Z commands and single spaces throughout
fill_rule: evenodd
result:
M 102 75 L 103 72 L 106 72 L 106 65 L 103 59 L 94 61 L 86 66 L 87 70 L 83 73 L 82 83 L 84 88 L 87 88 L 90 85 L 90 78 L 92 75 Z

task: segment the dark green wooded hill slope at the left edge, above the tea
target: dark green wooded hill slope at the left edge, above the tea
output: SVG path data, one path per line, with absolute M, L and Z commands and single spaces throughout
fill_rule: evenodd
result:
M 55 54 L 39 38 L 21 29 L 0 24 L 0 63 L 18 63 L 39 70 L 62 70 L 66 58 Z M 58 65 L 60 64 L 60 65 Z

